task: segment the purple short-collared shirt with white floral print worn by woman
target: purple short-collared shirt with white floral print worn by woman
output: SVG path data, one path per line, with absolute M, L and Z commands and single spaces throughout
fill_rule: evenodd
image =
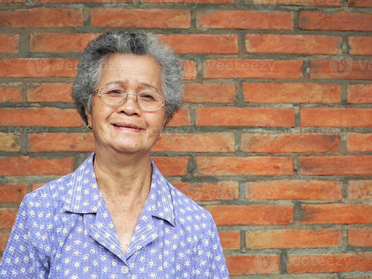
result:
M 23 198 L 0 277 L 230 278 L 210 212 L 173 187 L 152 159 L 150 193 L 124 253 L 97 186 L 94 154 Z

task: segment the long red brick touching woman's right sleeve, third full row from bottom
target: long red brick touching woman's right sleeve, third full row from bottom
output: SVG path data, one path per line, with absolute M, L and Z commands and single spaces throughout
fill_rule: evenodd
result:
M 292 223 L 289 205 L 208 205 L 216 225 L 287 225 Z

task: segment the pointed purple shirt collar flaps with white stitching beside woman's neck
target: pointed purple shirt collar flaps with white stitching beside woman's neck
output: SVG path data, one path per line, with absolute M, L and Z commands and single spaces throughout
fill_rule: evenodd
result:
M 96 213 L 102 206 L 102 194 L 98 189 L 96 175 L 93 169 L 93 152 L 72 174 L 68 177 L 67 192 L 62 196 L 63 210 L 74 213 Z M 175 225 L 175 213 L 170 192 L 169 182 L 160 173 L 150 158 L 152 177 L 150 193 L 147 198 L 147 210 L 151 215 L 167 220 Z

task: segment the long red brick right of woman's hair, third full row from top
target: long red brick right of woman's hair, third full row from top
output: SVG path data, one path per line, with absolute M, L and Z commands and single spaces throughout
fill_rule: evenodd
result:
M 302 60 L 208 59 L 205 78 L 300 78 Z

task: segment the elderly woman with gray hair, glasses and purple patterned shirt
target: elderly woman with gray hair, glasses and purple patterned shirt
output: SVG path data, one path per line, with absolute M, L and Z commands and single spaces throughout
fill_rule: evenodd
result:
M 142 30 L 106 32 L 87 45 L 72 96 L 95 152 L 25 196 L 1 275 L 229 278 L 210 212 L 150 157 L 183 104 L 184 77 L 174 50 Z

